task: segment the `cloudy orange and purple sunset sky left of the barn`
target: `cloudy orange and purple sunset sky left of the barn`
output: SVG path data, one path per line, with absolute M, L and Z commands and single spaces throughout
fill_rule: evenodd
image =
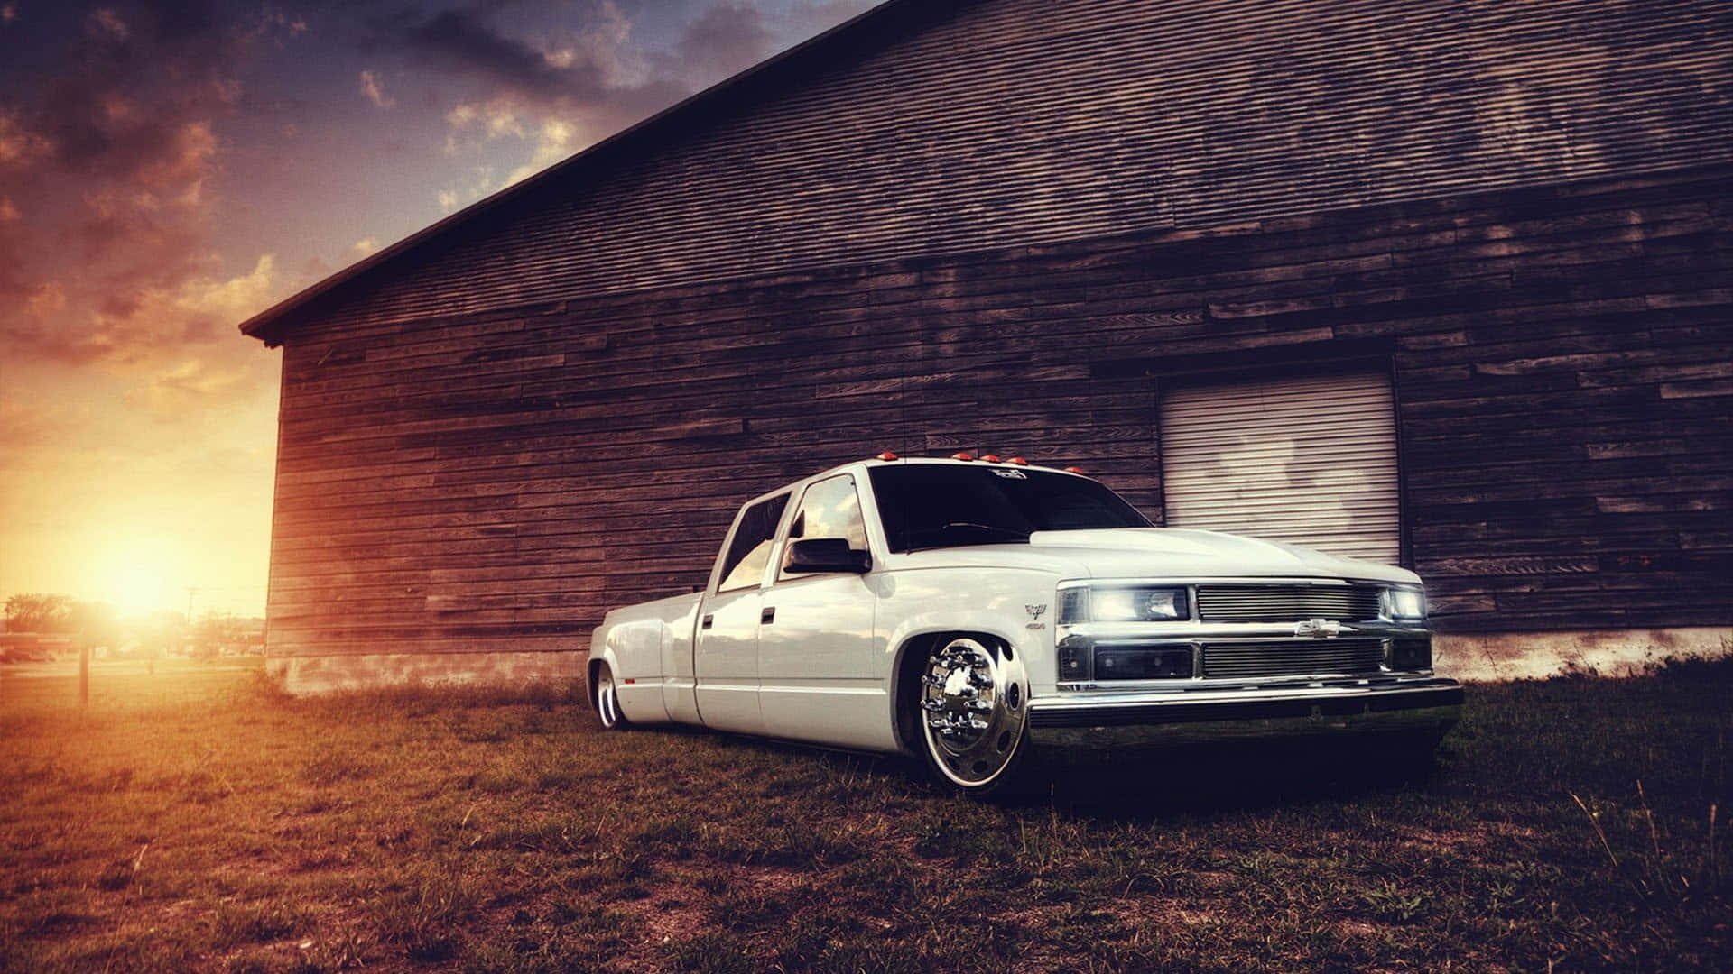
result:
M 0 0 L 0 600 L 263 612 L 251 314 L 873 0 Z

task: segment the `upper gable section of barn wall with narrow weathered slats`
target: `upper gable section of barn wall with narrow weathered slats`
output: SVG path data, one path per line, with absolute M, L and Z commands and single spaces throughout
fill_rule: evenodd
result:
M 312 317 L 409 322 L 1726 163 L 1730 23 L 1730 0 L 894 3 Z

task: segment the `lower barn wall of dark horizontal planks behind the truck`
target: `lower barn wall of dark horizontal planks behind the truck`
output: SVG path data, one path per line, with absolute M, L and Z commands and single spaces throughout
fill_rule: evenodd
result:
M 735 506 L 894 449 L 1159 518 L 1156 397 L 1393 369 L 1445 633 L 1733 622 L 1733 168 L 901 260 L 284 343 L 269 652 L 581 650 Z M 454 657 L 458 659 L 458 657 Z

